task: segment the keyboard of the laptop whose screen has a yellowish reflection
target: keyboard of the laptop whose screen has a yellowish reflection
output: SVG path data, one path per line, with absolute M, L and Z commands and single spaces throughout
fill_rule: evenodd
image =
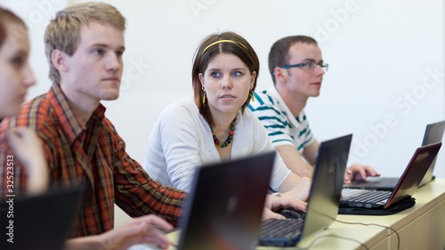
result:
M 262 223 L 260 246 L 295 246 L 302 234 L 304 220 L 270 219 Z

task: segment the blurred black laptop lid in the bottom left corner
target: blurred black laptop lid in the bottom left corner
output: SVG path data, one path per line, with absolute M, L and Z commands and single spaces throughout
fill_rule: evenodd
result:
M 80 197 L 78 188 L 27 198 L 6 197 L 0 206 L 0 249 L 63 249 L 74 228 Z M 6 213 L 2 213 L 4 207 Z

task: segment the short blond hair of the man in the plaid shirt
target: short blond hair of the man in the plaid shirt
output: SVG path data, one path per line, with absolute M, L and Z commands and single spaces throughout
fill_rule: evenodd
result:
M 80 43 L 80 28 L 91 22 L 110 24 L 125 32 L 124 16 L 110 4 L 75 4 L 57 12 L 44 32 L 44 52 L 50 65 L 49 77 L 53 82 L 61 81 L 59 71 L 51 59 L 53 51 L 57 49 L 73 55 Z

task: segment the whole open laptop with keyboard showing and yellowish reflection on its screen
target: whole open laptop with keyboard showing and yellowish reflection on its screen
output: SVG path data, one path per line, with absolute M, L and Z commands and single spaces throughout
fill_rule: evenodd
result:
M 301 220 L 263 222 L 260 246 L 295 246 L 336 221 L 351 141 L 349 134 L 320 143 L 306 215 Z

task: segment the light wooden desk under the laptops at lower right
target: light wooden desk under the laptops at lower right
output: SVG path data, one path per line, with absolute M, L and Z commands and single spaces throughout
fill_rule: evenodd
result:
M 362 222 L 384 225 L 397 230 L 400 249 L 445 249 L 445 179 L 437 179 L 414 195 L 416 205 L 398 214 L 384 216 L 338 215 L 343 222 Z M 397 249 L 397 236 L 392 230 L 377 226 L 350 225 L 334 222 L 320 232 L 311 249 L 365 249 L 359 243 L 335 235 L 353 238 L 369 249 Z M 284 249 L 258 247 L 258 249 Z M 285 249 L 300 249 L 287 247 Z

